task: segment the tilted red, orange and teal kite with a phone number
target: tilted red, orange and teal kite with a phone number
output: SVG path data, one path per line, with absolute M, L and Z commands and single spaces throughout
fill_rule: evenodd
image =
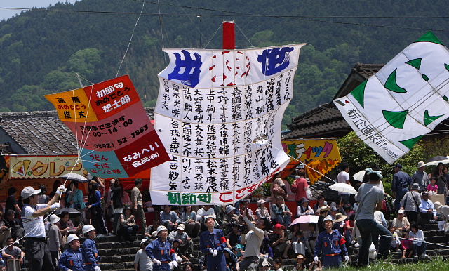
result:
M 169 160 L 127 75 L 46 98 L 76 135 L 93 176 L 132 177 Z

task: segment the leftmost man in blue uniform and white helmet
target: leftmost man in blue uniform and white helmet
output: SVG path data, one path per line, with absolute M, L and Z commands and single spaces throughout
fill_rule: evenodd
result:
M 83 271 L 86 270 L 83 262 L 83 253 L 81 251 L 79 238 L 76 234 L 69 234 L 67 237 L 69 249 L 62 253 L 58 261 L 58 267 L 61 271 Z

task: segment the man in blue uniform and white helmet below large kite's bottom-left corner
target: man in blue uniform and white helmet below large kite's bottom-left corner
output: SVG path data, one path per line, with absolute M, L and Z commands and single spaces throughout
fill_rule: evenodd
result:
M 168 230 L 165 226 L 157 228 L 158 238 L 145 248 L 147 256 L 152 259 L 154 271 L 169 271 L 177 267 L 176 253 L 168 242 Z

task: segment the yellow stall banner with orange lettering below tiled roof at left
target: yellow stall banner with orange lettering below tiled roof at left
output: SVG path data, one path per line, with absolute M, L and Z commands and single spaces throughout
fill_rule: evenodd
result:
M 76 155 L 9 157 L 9 178 L 58 178 L 66 173 L 86 176 L 88 172 Z

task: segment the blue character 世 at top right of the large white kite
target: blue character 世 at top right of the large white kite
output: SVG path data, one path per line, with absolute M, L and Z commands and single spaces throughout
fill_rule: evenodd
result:
M 290 64 L 290 54 L 293 47 L 282 47 L 265 49 L 262 55 L 257 57 L 257 61 L 262 63 L 262 73 L 273 75 L 284 70 Z

